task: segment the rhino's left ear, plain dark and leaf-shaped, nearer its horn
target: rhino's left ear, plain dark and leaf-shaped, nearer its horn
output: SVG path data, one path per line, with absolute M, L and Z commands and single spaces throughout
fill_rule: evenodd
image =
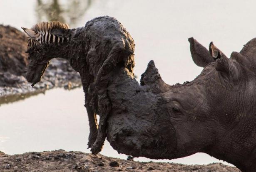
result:
M 209 51 L 196 41 L 193 37 L 189 38 L 190 52 L 193 61 L 197 66 L 205 67 L 207 64 L 214 62 Z

